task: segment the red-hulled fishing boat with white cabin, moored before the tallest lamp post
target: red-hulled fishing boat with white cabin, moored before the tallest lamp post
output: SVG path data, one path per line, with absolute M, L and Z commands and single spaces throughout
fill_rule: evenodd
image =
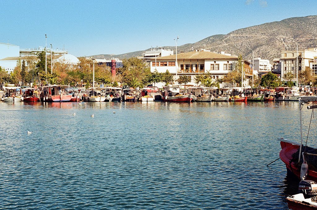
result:
M 163 101 L 169 102 L 191 102 L 193 97 L 191 93 L 181 94 L 179 86 L 165 86 Z

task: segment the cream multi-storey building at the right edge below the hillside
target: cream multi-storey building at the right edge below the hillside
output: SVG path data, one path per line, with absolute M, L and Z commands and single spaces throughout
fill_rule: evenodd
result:
M 317 48 L 308 48 L 298 51 L 298 65 L 296 51 L 282 51 L 281 52 L 281 79 L 287 73 L 294 74 L 296 81 L 296 74 L 300 73 L 302 69 L 310 67 L 310 63 L 317 57 Z M 298 72 L 297 72 L 298 69 Z

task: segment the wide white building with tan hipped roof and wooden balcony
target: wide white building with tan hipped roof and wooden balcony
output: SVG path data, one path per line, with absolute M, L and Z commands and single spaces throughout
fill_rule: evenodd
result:
M 176 78 L 176 55 L 151 58 L 151 72 L 157 70 L 160 73 L 168 70 L 174 80 L 182 75 L 190 77 L 189 85 L 196 85 L 195 78 L 197 74 L 209 72 L 212 79 L 221 79 L 227 73 L 234 70 L 237 56 L 226 55 L 224 53 L 213 53 L 209 51 L 192 51 L 188 53 L 177 54 L 178 72 Z M 243 60 L 243 72 L 245 78 L 252 76 L 250 62 Z M 244 84 L 247 85 L 247 82 Z

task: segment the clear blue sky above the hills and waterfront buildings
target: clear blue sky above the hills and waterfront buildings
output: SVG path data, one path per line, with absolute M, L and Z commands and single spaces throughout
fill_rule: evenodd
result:
M 48 45 L 75 56 L 122 54 L 194 43 L 208 36 L 317 15 L 315 0 L 9 1 L 1 0 L 0 42 Z

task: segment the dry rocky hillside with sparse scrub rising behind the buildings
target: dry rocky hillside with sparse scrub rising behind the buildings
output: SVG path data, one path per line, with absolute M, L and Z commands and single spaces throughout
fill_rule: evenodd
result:
M 213 35 L 193 44 L 178 47 L 178 52 L 189 52 L 192 49 L 207 49 L 215 52 L 225 51 L 234 55 L 242 54 L 243 58 L 251 59 L 254 50 L 255 57 L 274 59 L 281 57 L 281 51 L 291 50 L 299 44 L 299 49 L 317 47 L 317 16 L 293 17 L 279 22 L 269 22 L 262 25 L 238 29 L 227 35 Z M 175 47 L 166 46 L 165 49 Z M 111 55 L 116 58 L 141 56 L 144 51 L 121 55 Z M 95 55 L 96 58 L 110 58 L 109 55 Z

